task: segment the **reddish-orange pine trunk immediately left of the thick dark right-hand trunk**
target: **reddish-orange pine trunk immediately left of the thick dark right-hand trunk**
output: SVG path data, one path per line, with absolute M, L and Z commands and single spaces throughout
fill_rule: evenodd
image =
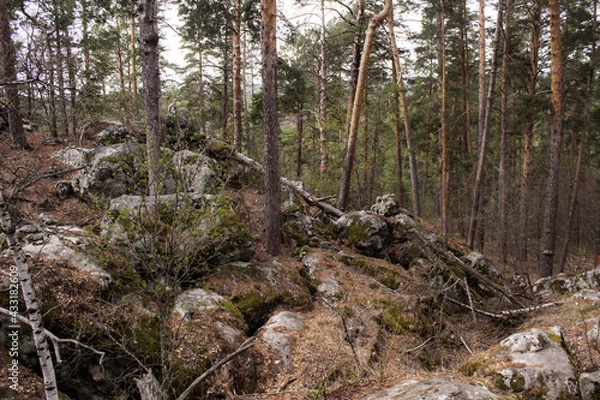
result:
M 527 82 L 527 94 L 533 100 L 537 91 L 538 64 L 540 54 L 541 37 L 541 0 L 535 0 L 531 15 L 531 43 L 530 43 L 530 65 Z M 522 167 L 521 167 L 521 190 L 519 195 L 519 233 L 518 233 L 518 260 L 527 261 L 528 231 L 529 231 L 529 201 L 531 200 L 531 168 L 533 164 L 533 127 L 535 110 L 528 107 L 523 123 L 522 143 Z

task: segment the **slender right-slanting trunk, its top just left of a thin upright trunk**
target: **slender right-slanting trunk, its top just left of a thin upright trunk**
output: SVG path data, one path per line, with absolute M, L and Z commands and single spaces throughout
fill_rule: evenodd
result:
M 480 0 L 481 3 L 484 3 L 484 0 Z M 480 12 L 483 10 L 480 8 Z M 485 96 L 485 108 L 483 111 L 483 120 L 479 121 L 479 155 L 477 159 L 477 172 L 475 175 L 475 184 L 473 186 L 473 207 L 471 208 L 471 217 L 469 219 L 469 231 L 467 232 L 467 245 L 469 248 L 473 248 L 475 243 L 475 234 L 477 231 L 477 225 L 479 224 L 479 219 L 481 218 L 481 209 L 482 207 L 482 190 L 483 190 L 483 180 L 485 177 L 485 158 L 487 154 L 488 147 L 488 136 L 490 133 L 490 126 L 492 122 L 492 104 L 494 102 L 494 90 L 496 86 L 496 76 L 498 73 L 498 51 L 500 48 L 500 34 L 502 31 L 502 15 L 503 15 L 503 3 L 500 2 L 498 4 L 498 19 L 496 21 L 496 35 L 494 38 L 494 50 L 492 54 L 492 66 L 490 71 L 490 81 L 488 86 L 488 93 Z M 485 17 L 482 17 L 485 19 Z M 480 21 L 480 23 L 482 23 Z M 485 57 L 485 40 L 483 45 L 483 52 L 480 53 L 480 57 Z M 481 68 L 481 64 L 480 64 Z M 481 69 L 479 71 L 481 73 Z M 485 63 L 484 63 L 484 74 L 485 74 Z M 484 80 L 485 82 L 485 80 Z M 480 80 L 481 84 L 482 81 Z M 479 93 L 481 94 L 481 88 L 479 89 Z M 480 99 L 481 101 L 481 99 Z M 479 116 L 481 118 L 481 104 Z

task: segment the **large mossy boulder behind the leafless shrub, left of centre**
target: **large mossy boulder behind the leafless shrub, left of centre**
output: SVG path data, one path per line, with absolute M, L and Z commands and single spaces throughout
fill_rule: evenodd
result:
M 164 262 L 186 268 L 189 279 L 218 265 L 248 261 L 254 252 L 250 232 L 224 196 L 121 196 L 110 201 L 101 235 L 134 252 L 134 259 L 152 260 L 160 249 Z

